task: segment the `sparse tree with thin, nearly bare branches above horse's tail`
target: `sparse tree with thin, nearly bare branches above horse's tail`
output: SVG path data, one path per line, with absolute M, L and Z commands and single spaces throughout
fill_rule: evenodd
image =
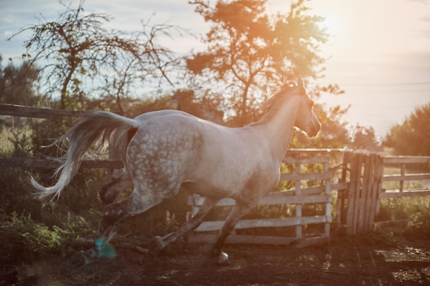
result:
M 73 105 L 79 99 L 92 95 L 116 102 L 118 112 L 124 114 L 123 97 L 133 90 L 142 91 L 150 82 L 169 82 L 167 73 L 176 59 L 157 43 L 157 36 L 179 29 L 142 22 L 140 32 L 109 31 L 104 24 L 112 17 L 85 13 L 83 3 L 81 0 L 77 9 L 65 6 L 66 11 L 56 21 L 42 18 L 38 24 L 21 29 L 17 34 L 32 33 L 25 41 L 23 58 L 30 64 L 43 62 L 43 86 L 48 86 L 47 94 L 60 98 L 60 108 L 69 104 L 78 108 Z

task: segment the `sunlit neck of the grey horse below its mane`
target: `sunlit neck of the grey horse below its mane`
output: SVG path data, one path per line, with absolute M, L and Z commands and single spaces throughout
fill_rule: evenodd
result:
M 291 143 L 291 137 L 294 132 L 294 123 L 299 112 L 299 102 L 297 98 L 290 97 L 285 100 L 281 108 L 274 114 L 267 114 L 269 120 L 264 120 L 260 124 L 264 138 L 269 141 L 271 153 L 274 158 L 282 160 L 288 146 Z M 269 112 L 274 110 L 269 110 Z

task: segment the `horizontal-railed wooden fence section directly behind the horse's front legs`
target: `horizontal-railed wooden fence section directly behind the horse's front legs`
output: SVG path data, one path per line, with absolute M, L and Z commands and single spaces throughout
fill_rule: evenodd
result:
M 332 194 L 333 190 L 346 189 L 346 183 L 332 183 L 330 171 L 330 157 L 327 154 L 330 150 L 289 150 L 283 160 L 284 165 L 292 165 L 293 173 L 281 174 L 281 181 L 294 182 L 294 188 L 271 193 L 259 202 L 259 207 L 269 206 L 280 208 L 280 206 L 294 206 L 293 215 L 285 213 L 278 218 L 242 219 L 236 224 L 235 230 L 260 229 L 264 233 L 264 228 L 295 228 L 295 235 L 241 235 L 234 233 L 227 237 L 226 243 L 256 243 L 256 244 L 291 244 L 296 246 L 308 246 L 313 243 L 327 241 L 330 237 L 330 224 L 332 223 Z M 307 158 L 303 158 L 303 156 Z M 302 172 L 307 169 L 304 165 L 319 165 L 321 172 Z M 305 182 L 315 182 L 319 184 L 307 187 Z M 188 202 L 192 206 L 190 215 L 195 215 L 203 204 L 203 198 L 199 195 L 190 196 Z M 225 198 L 217 206 L 234 206 L 232 199 Z M 319 205 L 321 210 L 318 214 L 305 214 L 305 205 Z M 216 233 L 222 228 L 224 221 L 203 222 L 198 228 L 188 236 L 190 242 L 212 242 L 216 239 Z M 310 225 L 321 225 L 319 233 L 304 233 L 304 228 Z M 263 229 L 263 230 L 262 230 Z M 215 231 L 215 232 L 214 232 Z M 285 230 L 287 232 L 287 230 Z M 278 232 L 279 233 L 279 232 Z

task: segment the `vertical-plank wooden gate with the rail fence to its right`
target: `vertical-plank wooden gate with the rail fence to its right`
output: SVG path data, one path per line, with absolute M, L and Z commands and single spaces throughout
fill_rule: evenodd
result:
M 370 152 L 346 152 L 343 157 L 342 178 L 349 182 L 337 200 L 337 222 L 345 226 L 347 235 L 368 233 L 374 229 L 381 200 L 407 196 L 430 195 L 430 190 L 404 190 L 405 181 L 430 180 L 430 174 L 405 174 L 406 165 L 429 166 L 429 156 L 383 156 Z M 385 167 L 396 165 L 400 174 L 385 174 Z M 425 168 L 423 168 L 425 169 Z M 397 181 L 398 189 L 385 189 L 384 182 Z

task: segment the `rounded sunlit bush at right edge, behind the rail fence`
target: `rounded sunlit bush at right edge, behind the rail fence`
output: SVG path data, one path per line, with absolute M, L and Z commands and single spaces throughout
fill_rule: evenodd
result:
M 385 137 L 384 145 L 397 155 L 430 156 L 430 103 L 420 106 L 394 126 Z

